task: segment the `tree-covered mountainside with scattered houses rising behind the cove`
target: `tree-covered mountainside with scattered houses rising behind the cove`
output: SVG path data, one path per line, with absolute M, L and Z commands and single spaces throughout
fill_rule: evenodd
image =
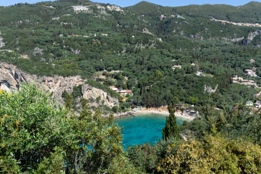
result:
M 88 7 L 72 8 L 79 5 Z M 231 77 L 260 83 L 244 76 L 244 70 L 261 67 L 260 27 L 209 19 L 261 23 L 259 8 L 257 2 L 162 7 L 142 1 L 118 10 L 84 0 L 18 3 L 0 7 L 0 61 L 30 74 L 80 75 L 102 89 L 132 90 L 115 111 L 162 106 L 173 97 L 196 107 L 206 100 L 219 108 L 254 102 L 259 90 L 232 83 Z M 174 65 L 180 68 L 173 71 Z M 217 85 L 215 93 L 206 92 L 205 86 Z

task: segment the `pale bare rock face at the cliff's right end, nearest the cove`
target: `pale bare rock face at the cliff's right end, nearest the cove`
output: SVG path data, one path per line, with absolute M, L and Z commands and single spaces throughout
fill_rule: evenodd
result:
M 99 106 L 101 104 L 104 104 L 106 106 L 109 106 L 110 108 L 113 106 L 119 106 L 119 101 L 116 98 L 110 97 L 107 95 L 106 92 L 104 92 L 101 89 L 94 88 L 92 86 L 89 86 L 88 84 L 83 84 L 81 88 L 81 93 L 83 94 L 84 99 L 90 99 L 91 103 L 89 103 L 90 106 Z M 100 96 L 100 99 L 97 100 L 97 98 Z

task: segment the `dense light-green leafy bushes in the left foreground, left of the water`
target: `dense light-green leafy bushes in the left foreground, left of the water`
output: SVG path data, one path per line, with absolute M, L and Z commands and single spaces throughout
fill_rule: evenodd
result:
M 113 116 L 92 113 L 86 102 L 77 116 L 24 84 L 14 93 L 1 90 L 0 106 L 2 173 L 104 173 L 126 161 Z

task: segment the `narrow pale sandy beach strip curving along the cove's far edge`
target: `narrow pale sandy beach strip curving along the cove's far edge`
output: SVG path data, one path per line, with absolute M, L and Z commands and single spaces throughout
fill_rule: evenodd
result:
M 114 115 L 114 119 L 122 118 L 122 117 L 128 117 L 128 116 L 137 116 L 141 114 L 161 114 L 161 115 L 169 115 L 168 111 L 159 111 L 159 110 L 130 110 L 125 113 L 119 113 Z M 181 113 L 175 112 L 176 117 L 180 117 L 183 119 L 187 119 L 189 121 L 192 121 L 195 117 L 191 116 L 185 116 L 182 115 Z

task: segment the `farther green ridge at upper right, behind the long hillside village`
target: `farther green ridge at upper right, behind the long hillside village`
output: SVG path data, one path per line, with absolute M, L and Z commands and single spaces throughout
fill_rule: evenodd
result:
M 204 5 L 189 5 L 180 7 L 164 7 L 157 4 L 142 1 L 134 6 L 126 7 L 137 14 L 158 16 L 164 14 L 165 16 L 180 14 L 184 17 L 192 18 L 206 18 L 222 19 L 234 22 L 249 22 L 260 23 L 261 18 L 261 3 L 251 1 L 243 6 L 230 6 L 226 4 L 204 4 Z

